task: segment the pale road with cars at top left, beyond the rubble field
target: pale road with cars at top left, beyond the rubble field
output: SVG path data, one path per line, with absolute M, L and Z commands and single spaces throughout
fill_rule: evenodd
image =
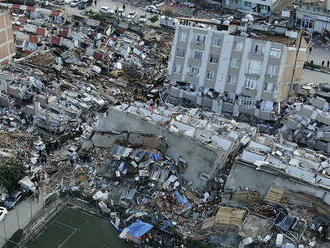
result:
M 135 12 L 136 17 L 134 18 L 134 21 L 138 22 L 141 15 L 146 15 L 147 17 L 147 25 L 155 25 L 159 26 L 159 21 L 155 23 L 151 23 L 149 18 L 154 16 L 155 14 L 146 12 L 143 7 L 136 7 L 133 5 L 130 5 L 129 3 L 123 3 L 120 1 L 112 1 L 112 0 L 97 0 L 97 5 L 93 3 L 92 6 L 88 7 L 87 10 L 93 10 L 95 12 L 99 12 L 101 7 L 109 7 L 112 10 L 115 9 L 123 9 L 123 5 L 125 5 L 125 12 L 124 15 L 127 17 L 129 12 Z M 65 9 L 68 12 L 68 14 L 83 14 L 85 10 L 79 10 L 77 7 L 70 7 L 69 5 L 65 5 Z

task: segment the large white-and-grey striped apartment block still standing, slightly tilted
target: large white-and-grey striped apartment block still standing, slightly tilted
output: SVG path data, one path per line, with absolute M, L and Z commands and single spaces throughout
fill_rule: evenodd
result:
M 289 31 L 296 37 L 239 34 L 179 25 L 168 66 L 170 102 L 274 120 L 280 103 L 300 83 L 307 43 Z

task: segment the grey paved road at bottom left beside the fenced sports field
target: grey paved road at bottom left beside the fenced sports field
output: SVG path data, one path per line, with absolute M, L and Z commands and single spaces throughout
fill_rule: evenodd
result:
M 39 200 L 26 199 L 9 211 L 5 219 L 0 222 L 0 247 L 5 243 L 3 238 L 9 239 L 17 230 L 25 228 L 43 205 L 43 197 L 40 196 Z

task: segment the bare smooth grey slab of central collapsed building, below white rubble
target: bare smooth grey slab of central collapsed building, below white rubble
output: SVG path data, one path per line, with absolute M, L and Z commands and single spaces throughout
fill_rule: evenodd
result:
M 224 165 L 227 154 L 202 142 L 145 121 L 137 116 L 109 109 L 105 117 L 98 119 L 98 131 L 132 132 L 162 136 L 168 143 L 166 155 L 178 160 L 183 157 L 188 164 L 183 177 L 198 188 L 203 188 L 217 168 Z M 111 144 L 109 144 L 111 145 Z

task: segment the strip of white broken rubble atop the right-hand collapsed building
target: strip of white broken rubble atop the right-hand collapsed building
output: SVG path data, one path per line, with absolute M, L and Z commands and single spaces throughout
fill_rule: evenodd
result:
M 271 136 L 256 136 L 238 158 L 258 169 L 271 168 L 323 189 L 330 186 L 330 160 L 312 150 Z M 328 202 L 330 203 L 330 202 Z

